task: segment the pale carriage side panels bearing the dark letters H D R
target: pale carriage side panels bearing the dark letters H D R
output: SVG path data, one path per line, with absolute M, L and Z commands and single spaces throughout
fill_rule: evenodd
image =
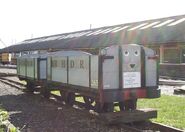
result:
M 48 59 L 51 61 L 51 66 L 48 66 L 51 72 L 48 70 L 48 74 L 51 74 L 52 81 L 89 87 L 90 55 L 82 51 L 51 52 Z

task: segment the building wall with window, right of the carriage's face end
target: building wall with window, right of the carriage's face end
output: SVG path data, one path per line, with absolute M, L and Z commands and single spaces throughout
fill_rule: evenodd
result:
M 159 56 L 159 75 L 185 80 L 185 43 L 151 47 Z

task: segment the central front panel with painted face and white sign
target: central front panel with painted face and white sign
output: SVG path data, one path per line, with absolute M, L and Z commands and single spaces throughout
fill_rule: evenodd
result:
M 141 46 L 122 46 L 123 88 L 141 87 Z

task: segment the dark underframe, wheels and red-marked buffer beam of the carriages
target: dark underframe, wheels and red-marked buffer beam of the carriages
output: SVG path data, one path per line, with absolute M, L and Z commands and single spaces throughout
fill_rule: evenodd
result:
M 77 97 L 82 97 L 81 100 L 84 102 L 85 108 L 88 110 L 94 110 L 98 113 L 136 110 L 137 99 L 147 98 L 147 93 L 150 92 L 147 91 L 146 88 L 99 90 L 67 85 L 58 82 L 48 82 L 46 80 L 38 81 L 23 77 L 19 78 L 27 82 L 26 87 L 28 92 L 33 93 L 37 88 L 40 88 L 41 94 L 44 97 L 49 98 L 51 91 L 58 90 L 61 95 L 61 101 L 71 106 L 73 106 Z M 152 96 L 156 97 L 159 92 L 159 90 L 153 88 Z M 152 98 L 152 96 L 148 96 L 148 98 Z

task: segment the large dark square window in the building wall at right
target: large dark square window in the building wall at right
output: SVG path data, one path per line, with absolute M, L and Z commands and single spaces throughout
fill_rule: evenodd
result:
M 164 49 L 164 63 L 180 63 L 179 49 Z

